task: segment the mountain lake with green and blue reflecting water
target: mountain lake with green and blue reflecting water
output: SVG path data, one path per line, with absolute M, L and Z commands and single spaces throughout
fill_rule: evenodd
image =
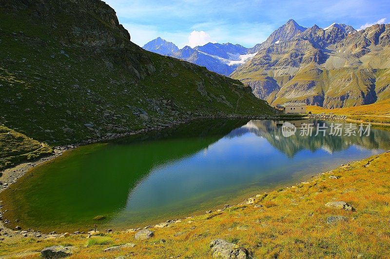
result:
M 302 122 L 310 121 L 294 124 Z M 10 220 L 10 227 L 42 232 L 156 224 L 234 204 L 390 147 L 387 131 L 309 137 L 299 136 L 298 128 L 286 138 L 279 124 L 197 121 L 78 147 L 33 168 L 1 192 L 3 210 L 8 210 L 3 219 Z

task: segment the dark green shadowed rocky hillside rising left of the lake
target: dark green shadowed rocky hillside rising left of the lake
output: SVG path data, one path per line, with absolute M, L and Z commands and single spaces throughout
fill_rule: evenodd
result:
M 39 141 L 273 112 L 237 80 L 142 50 L 103 1 L 2 0 L 0 20 L 0 122 Z

